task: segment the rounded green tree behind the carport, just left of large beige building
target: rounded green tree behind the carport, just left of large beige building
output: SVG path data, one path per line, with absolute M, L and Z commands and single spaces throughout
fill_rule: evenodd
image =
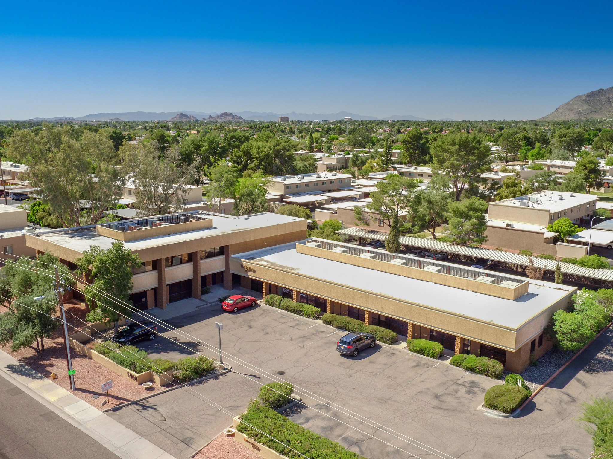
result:
M 484 236 L 485 212 L 488 204 L 473 196 L 463 201 L 455 201 L 449 204 L 449 212 L 446 212 L 447 225 L 444 229 L 449 231 L 449 238 L 455 244 L 479 245 L 487 241 Z

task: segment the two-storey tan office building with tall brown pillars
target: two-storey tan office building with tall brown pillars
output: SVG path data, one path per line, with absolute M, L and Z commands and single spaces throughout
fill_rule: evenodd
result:
M 202 288 L 213 284 L 232 289 L 230 255 L 306 236 L 307 220 L 303 218 L 267 212 L 234 217 L 200 211 L 25 234 L 31 250 L 51 252 L 71 269 L 92 245 L 107 249 L 115 241 L 123 242 L 143 261 L 134 270 L 131 292 L 132 302 L 142 310 L 166 308 L 190 296 L 200 298 Z

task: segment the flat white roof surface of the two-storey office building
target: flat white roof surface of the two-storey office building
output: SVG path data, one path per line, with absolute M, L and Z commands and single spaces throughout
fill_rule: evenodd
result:
M 249 218 L 220 214 L 205 215 L 213 218 L 213 226 L 211 226 L 211 228 L 186 231 L 185 233 L 148 237 L 147 239 L 138 239 L 137 241 L 126 241 L 124 242 L 124 246 L 135 252 L 146 248 L 160 247 L 166 244 L 175 244 L 176 242 L 194 241 L 196 239 L 216 236 L 218 234 L 226 234 L 254 228 L 264 228 L 266 226 L 273 226 L 279 223 L 304 220 L 304 218 L 289 217 L 288 215 L 272 214 L 270 212 L 248 215 Z M 83 230 L 69 231 L 51 230 L 50 232 L 38 231 L 38 235 L 43 241 L 63 245 L 64 247 L 69 247 L 74 250 L 78 250 L 79 252 L 89 250 L 92 245 L 98 245 L 100 248 L 104 249 L 110 248 L 113 242 L 115 242 L 115 239 L 112 239 L 111 237 L 100 236 L 97 234 L 96 228 L 85 228 Z

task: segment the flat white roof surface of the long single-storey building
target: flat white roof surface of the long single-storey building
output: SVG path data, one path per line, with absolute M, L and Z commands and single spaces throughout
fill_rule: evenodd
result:
M 469 316 L 485 323 L 517 329 L 530 318 L 565 297 L 574 287 L 530 280 L 528 293 L 508 300 L 446 285 L 376 271 L 338 261 L 296 252 L 295 244 L 277 245 L 234 258 L 248 259 L 270 267 L 283 267 L 294 274 L 337 285 L 371 291 L 458 316 Z M 513 277 L 508 276 L 507 277 Z M 519 278 L 524 282 L 525 278 Z M 323 292 L 322 292 L 323 294 Z

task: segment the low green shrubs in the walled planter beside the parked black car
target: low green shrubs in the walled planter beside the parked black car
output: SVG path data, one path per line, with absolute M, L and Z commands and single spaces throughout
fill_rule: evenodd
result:
M 176 371 L 174 378 L 181 383 L 188 383 L 192 379 L 202 378 L 206 373 L 213 370 L 215 362 L 207 359 L 204 356 L 185 357 L 177 362 L 172 362 L 168 359 L 150 359 L 147 357 L 147 351 L 137 348 L 136 346 L 120 346 L 113 341 L 104 341 L 104 343 L 96 343 L 93 347 L 94 351 L 120 365 L 123 368 L 128 368 L 135 373 L 143 373 L 144 371 L 153 371 L 160 375 L 166 371 Z

